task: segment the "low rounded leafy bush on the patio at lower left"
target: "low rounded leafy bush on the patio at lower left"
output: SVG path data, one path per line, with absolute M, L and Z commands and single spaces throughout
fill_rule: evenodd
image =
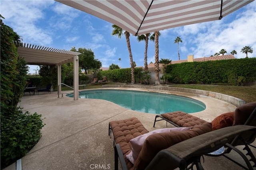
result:
M 36 145 L 44 127 L 41 117 L 28 111 L 1 117 L 1 164 L 21 158 Z

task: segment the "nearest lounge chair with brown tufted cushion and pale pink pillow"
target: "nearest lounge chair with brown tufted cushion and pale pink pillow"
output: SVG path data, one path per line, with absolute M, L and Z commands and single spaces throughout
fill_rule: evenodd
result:
M 158 133 L 148 135 L 150 132 L 136 117 L 109 122 L 108 134 L 113 133 L 116 143 L 114 145 L 115 170 L 118 170 L 118 158 L 123 170 L 173 170 L 176 168 L 185 170 L 188 166 L 188 169 L 193 168 L 194 165 L 201 170 L 203 169 L 200 162 L 202 155 L 225 146 L 238 134 L 251 131 L 256 133 L 256 127 L 248 125 L 236 125 L 211 131 L 211 123 L 203 123 L 182 131 L 163 132 L 165 129 L 175 128 L 157 129 L 160 130 Z M 146 137 L 144 142 L 140 141 L 142 136 Z M 138 149 L 138 145 L 142 146 L 138 157 L 132 163 L 128 157 L 131 152 Z

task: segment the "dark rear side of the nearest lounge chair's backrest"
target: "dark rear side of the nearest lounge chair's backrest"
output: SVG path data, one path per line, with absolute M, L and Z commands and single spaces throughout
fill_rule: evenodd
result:
M 234 139 L 236 135 L 240 136 L 247 132 L 256 133 L 256 127 L 248 125 L 225 127 L 187 139 L 158 152 L 145 170 L 173 170 L 175 168 L 187 170 L 193 169 L 194 165 L 197 170 L 203 170 L 200 162 L 202 155 L 226 146 L 226 143 Z

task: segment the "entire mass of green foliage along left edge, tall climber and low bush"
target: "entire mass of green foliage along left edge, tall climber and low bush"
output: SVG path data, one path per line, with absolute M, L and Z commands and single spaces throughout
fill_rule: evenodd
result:
M 0 15 L 2 18 L 2 16 Z M 21 113 L 17 108 L 26 85 L 28 66 L 17 53 L 14 41 L 20 37 L 12 28 L 1 24 L 1 112 L 0 149 L 1 168 L 24 156 L 40 139 L 41 115 Z

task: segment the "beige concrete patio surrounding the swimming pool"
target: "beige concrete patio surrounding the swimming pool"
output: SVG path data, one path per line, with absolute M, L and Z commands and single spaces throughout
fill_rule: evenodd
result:
M 124 89 L 124 88 L 115 88 Z M 127 89 L 127 88 L 126 88 Z M 129 88 L 129 90 L 135 90 Z M 138 89 L 143 91 L 152 91 Z M 165 92 L 162 90 L 154 90 Z M 212 121 L 221 113 L 234 111 L 236 106 L 198 94 L 167 92 L 197 99 L 206 104 L 206 109 L 193 115 Z M 25 94 L 20 107 L 30 113 L 37 112 L 44 117 L 40 141 L 22 158 L 23 170 L 90 170 L 114 169 L 113 138 L 108 136 L 108 122 L 137 117 L 148 131 L 166 127 L 164 121 L 153 127 L 155 114 L 141 113 L 98 99 L 57 98 L 57 92 L 42 92 L 39 95 Z M 168 123 L 168 127 L 173 127 Z M 255 142 L 254 142 L 255 143 Z M 253 150 L 255 153 L 256 150 Z M 241 158 L 232 154 L 239 162 Z M 242 164 L 243 161 L 241 161 Z M 100 165 L 100 168 L 99 168 Z M 202 163 L 206 170 L 242 169 L 230 160 L 204 156 Z M 103 168 L 102 168 L 103 167 Z M 5 170 L 16 170 L 16 163 Z

